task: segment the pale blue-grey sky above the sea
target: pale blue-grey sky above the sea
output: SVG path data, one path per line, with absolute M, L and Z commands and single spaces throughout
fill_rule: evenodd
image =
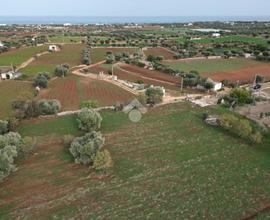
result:
M 0 16 L 269 16 L 270 0 L 2 0 Z

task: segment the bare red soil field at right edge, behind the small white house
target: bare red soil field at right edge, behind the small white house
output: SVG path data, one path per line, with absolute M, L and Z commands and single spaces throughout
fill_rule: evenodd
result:
M 241 84 L 244 84 L 253 82 L 256 74 L 263 75 L 270 80 L 270 64 L 262 63 L 257 66 L 228 72 L 203 73 L 202 76 L 211 77 L 216 81 L 227 79 L 231 82 L 239 81 Z

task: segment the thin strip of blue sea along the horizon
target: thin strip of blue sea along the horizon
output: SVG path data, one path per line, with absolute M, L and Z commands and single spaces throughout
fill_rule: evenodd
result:
M 125 24 L 199 21 L 270 21 L 270 16 L 0 16 L 0 24 Z

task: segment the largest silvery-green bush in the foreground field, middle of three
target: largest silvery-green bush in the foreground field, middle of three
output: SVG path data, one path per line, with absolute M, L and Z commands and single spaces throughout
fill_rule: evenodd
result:
M 97 152 L 103 147 L 104 142 L 105 140 L 101 133 L 93 131 L 83 137 L 74 139 L 69 151 L 74 157 L 75 163 L 89 165 L 93 163 Z

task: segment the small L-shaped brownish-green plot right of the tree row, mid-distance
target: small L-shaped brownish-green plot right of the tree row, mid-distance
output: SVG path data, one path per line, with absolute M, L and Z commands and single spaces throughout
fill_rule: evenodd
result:
M 91 61 L 93 64 L 98 63 L 106 59 L 107 52 L 120 53 L 127 52 L 129 54 L 134 54 L 138 51 L 138 48 L 129 47 L 100 47 L 91 49 Z

